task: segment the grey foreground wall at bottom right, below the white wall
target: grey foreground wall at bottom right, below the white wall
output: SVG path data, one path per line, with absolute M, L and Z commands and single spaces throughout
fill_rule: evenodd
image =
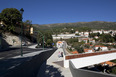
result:
M 76 69 L 71 61 L 69 62 L 69 67 L 73 77 L 116 77 L 116 75 L 94 72 L 84 69 Z

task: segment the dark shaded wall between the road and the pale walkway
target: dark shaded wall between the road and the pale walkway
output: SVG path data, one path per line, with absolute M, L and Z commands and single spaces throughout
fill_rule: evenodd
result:
M 56 49 L 41 52 L 31 59 L 24 61 L 19 66 L 7 71 L 0 77 L 36 77 L 41 64 L 46 61 Z

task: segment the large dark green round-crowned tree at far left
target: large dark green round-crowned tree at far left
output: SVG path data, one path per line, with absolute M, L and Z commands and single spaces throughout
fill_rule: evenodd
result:
M 4 31 L 14 31 L 17 23 L 22 21 L 22 15 L 16 8 L 6 8 L 0 13 L 0 19 L 4 22 Z

